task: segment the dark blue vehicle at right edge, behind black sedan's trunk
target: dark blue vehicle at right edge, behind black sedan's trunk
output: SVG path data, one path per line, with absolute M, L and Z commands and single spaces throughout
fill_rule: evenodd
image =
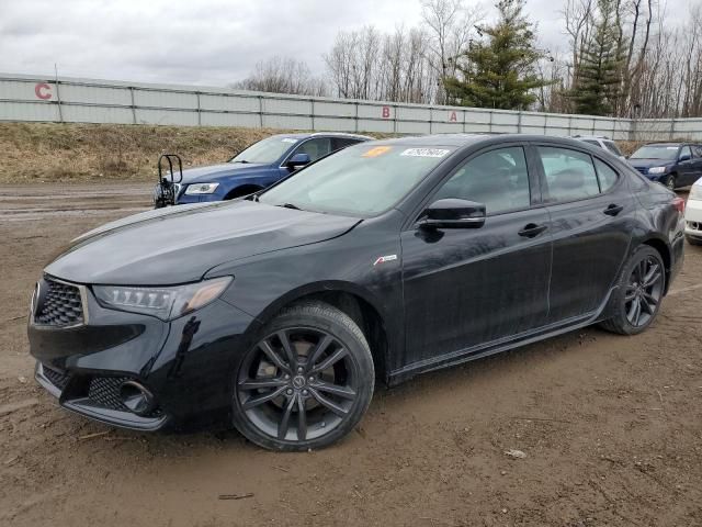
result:
M 688 143 L 645 145 L 630 156 L 629 162 L 652 181 L 675 190 L 702 177 L 702 146 Z

